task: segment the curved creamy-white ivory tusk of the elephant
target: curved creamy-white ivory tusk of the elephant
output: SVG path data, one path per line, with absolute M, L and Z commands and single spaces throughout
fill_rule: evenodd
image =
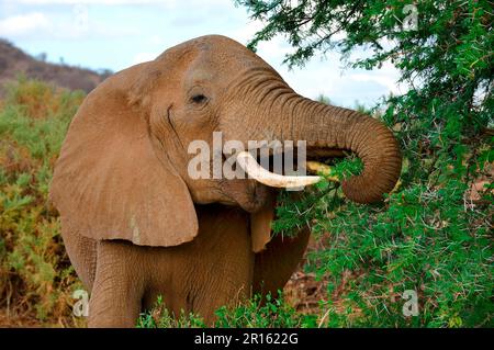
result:
M 240 151 L 236 159 L 238 166 L 252 179 L 272 188 L 300 188 L 321 181 L 321 177 L 282 176 L 262 168 L 248 151 Z

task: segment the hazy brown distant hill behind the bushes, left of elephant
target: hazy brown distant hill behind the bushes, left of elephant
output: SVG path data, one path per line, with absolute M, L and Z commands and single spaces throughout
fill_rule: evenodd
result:
M 111 72 L 46 63 L 36 59 L 5 39 L 0 38 L 0 87 L 8 80 L 15 79 L 19 74 L 29 78 L 49 81 L 56 86 L 86 92 L 94 89 Z

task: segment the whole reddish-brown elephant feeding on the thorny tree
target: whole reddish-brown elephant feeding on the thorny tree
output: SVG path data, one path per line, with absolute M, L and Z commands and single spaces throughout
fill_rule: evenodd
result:
M 173 315 L 212 325 L 220 306 L 276 293 L 296 269 L 310 228 L 271 233 L 283 184 L 188 172 L 188 145 L 211 144 L 214 132 L 245 144 L 304 140 L 308 159 L 356 154 L 363 170 L 341 188 L 358 203 L 382 201 L 401 172 L 383 123 L 301 97 L 228 37 L 193 38 L 116 72 L 72 118 L 49 190 L 90 291 L 89 327 L 133 327 L 159 295 Z

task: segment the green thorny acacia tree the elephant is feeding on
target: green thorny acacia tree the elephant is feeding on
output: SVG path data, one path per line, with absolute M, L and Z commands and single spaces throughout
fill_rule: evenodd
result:
M 316 235 L 330 234 L 306 267 L 328 280 L 325 324 L 492 326 L 492 2 L 236 2 L 265 23 L 254 50 L 282 35 L 290 67 L 338 50 L 350 67 L 392 63 L 409 87 L 374 110 L 404 155 L 384 203 L 349 203 L 328 183 L 302 201 L 281 197 L 276 232 L 310 222 Z M 362 48 L 366 57 L 350 60 Z M 353 168 L 337 165 L 343 174 Z M 405 291 L 417 293 L 418 314 L 402 313 Z

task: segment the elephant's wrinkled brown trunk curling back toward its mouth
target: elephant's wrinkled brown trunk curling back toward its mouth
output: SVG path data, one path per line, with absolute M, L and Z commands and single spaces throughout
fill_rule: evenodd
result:
M 394 188 L 402 157 L 393 134 L 380 121 L 301 97 L 287 112 L 290 114 L 292 139 L 306 140 L 308 157 L 311 148 L 323 148 L 349 150 L 362 160 L 363 171 L 343 182 L 343 191 L 348 199 L 358 203 L 377 202 Z

